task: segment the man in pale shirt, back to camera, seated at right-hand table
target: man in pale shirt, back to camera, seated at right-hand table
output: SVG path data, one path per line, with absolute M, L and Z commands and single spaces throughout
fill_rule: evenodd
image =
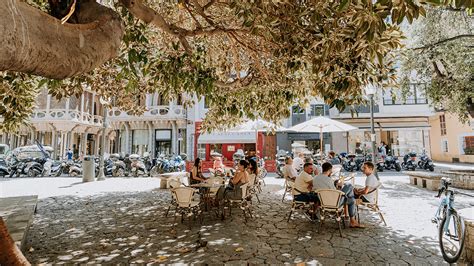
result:
M 313 190 L 318 189 L 336 189 L 335 183 L 331 178 L 332 173 L 332 165 L 330 163 L 323 163 L 322 165 L 322 174 L 317 175 L 313 179 Z M 338 184 L 341 186 L 342 184 Z M 351 184 L 347 183 L 342 186 L 340 189 L 342 192 L 345 193 L 344 201 L 340 202 L 340 204 L 347 204 L 349 210 L 349 217 L 350 217 L 350 226 L 349 227 L 361 227 L 356 219 L 356 204 L 354 199 L 353 187 Z

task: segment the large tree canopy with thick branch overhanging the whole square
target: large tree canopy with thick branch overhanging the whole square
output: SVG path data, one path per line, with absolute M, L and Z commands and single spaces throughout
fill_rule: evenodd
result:
M 146 93 L 205 96 L 207 128 L 243 117 L 278 121 L 313 96 L 344 109 L 363 101 L 368 83 L 395 85 L 399 25 L 427 5 L 464 10 L 473 2 L 7 1 L 1 127 L 25 121 L 44 85 L 57 97 L 88 87 L 136 114 Z

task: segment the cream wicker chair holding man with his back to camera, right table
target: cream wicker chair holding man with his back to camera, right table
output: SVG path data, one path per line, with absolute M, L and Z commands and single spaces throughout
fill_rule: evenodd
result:
M 339 235 L 342 237 L 341 222 L 344 227 L 342 214 L 344 213 L 344 205 L 341 204 L 344 192 L 337 189 L 318 189 L 316 190 L 320 202 L 320 214 L 318 232 L 320 232 L 325 218 L 334 217 L 339 227 Z

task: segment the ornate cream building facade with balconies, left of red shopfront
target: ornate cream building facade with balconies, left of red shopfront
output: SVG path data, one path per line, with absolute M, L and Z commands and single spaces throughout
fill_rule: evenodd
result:
M 157 94 L 147 95 L 143 104 L 147 111 L 140 116 L 129 115 L 116 107 L 105 110 L 100 97 L 84 91 L 80 97 L 57 100 L 41 91 L 30 125 L 14 134 L 0 134 L 0 143 L 10 149 L 32 145 L 36 141 L 54 149 L 53 157 L 64 158 L 71 149 L 74 157 L 98 155 L 105 111 L 107 129 L 105 152 L 179 154 L 186 152 L 187 113 L 181 100 L 165 101 Z

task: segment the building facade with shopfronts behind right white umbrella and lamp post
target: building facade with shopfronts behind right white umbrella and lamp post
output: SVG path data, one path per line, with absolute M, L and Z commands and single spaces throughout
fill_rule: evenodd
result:
M 424 94 L 424 84 L 411 84 L 411 93 L 405 100 L 400 100 L 397 91 L 378 91 L 374 103 L 374 128 L 376 143 L 385 142 L 394 155 L 404 155 L 409 151 L 430 152 L 430 123 L 432 108 Z M 351 110 L 352 108 L 352 110 Z M 286 127 L 309 120 L 315 116 L 327 116 L 354 127 L 357 130 L 344 133 L 323 133 L 323 150 L 334 150 L 336 153 L 355 153 L 356 149 L 371 152 L 370 108 L 354 106 L 339 112 L 329 108 L 322 101 L 313 99 L 310 106 L 300 108 L 293 106 L 291 116 L 284 121 Z M 299 142 L 310 150 L 320 149 L 319 133 L 280 133 L 277 136 L 277 147 L 291 150 L 291 144 Z

